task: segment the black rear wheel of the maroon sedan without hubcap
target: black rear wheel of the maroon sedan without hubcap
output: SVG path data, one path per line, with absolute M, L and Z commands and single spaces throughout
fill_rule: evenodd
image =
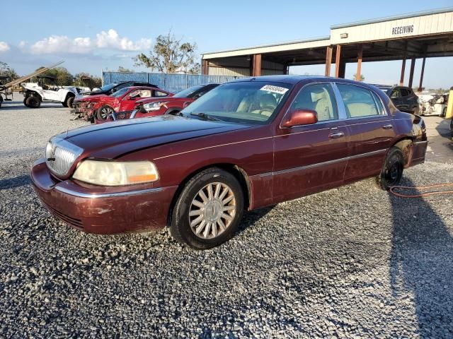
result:
M 403 152 L 397 148 L 392 147 L 387 153 L 384 165 L 382 165 L 381 174 L 376 177 L 377 185 L 389 191 L 391 186 L 396 186 L 403 177 L 404 169 L 404 155 Z

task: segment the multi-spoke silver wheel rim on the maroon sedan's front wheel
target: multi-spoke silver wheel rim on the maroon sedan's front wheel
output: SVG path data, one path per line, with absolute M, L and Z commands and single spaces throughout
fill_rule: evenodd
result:
M 213 182 L 193 198 L 189 210 L 190 228 L 197 237 L 212 239 L 226 231 L 235 214 L 233 191 L 222 182 Z

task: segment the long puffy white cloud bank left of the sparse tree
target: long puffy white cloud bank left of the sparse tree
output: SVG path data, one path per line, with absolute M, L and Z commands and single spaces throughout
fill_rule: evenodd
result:
M 25 46 L 25 44 L 23 44 Z M 102 31 L 96 35 L 96 40 L 91 37 L 76 37 L 71 39 L 66 35 L 52 35 L 35 42 L 31 46 L 34 54 L 71 53 L 86 54 L 94 49 L 115 49 L 120 51 L 140 51 L 151 47 L 151 39 L 140 39 L 136 42 L 127 37 L 120 37 L 116 30 Z

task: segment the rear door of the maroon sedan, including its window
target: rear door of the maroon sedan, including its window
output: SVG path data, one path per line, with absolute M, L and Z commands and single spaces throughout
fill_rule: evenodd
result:
M 350 134 L 345 182 L 379 174 L 394 140 L 394 122 L 377 93 L 351 83 L 336 83 Z

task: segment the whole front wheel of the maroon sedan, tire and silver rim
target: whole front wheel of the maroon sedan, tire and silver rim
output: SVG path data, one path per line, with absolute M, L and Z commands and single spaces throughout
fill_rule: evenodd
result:
M 212 167 L 185 184 L 173 208 L 170 232 L 194 249 L 210 249 L 230 239 L 243 214 L 243 191 L 233 174 Z

